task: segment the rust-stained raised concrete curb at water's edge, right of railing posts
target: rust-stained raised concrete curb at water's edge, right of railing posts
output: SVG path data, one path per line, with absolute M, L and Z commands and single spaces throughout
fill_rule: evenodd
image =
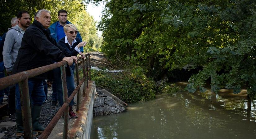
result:
M 93 103 L 96 92 L 95 82 L 89 82 L 89 89 L 86 90 L 85 99 L 80 104 L 78 118 L 73 124 L 69 133 L 70 139 L 89 139 L 91 134 Z

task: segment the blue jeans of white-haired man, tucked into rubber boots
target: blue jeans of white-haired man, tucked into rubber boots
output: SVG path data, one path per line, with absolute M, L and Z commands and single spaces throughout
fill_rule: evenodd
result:
M 29 84 L 30 103 L 32 105 L 42 106 L 45 100 L 43 80 L 30 78 L 28 80 L 28 84 Z M 16 84 L 15 86 L 16 86 L 16 91 L 15 91 L 16 109 L 21 110 L 19 84 Z

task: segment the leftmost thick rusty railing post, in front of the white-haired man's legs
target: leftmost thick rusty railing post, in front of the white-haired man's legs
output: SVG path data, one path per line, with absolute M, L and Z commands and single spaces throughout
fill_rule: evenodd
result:
M 19 82 L 24 138 L 33 139 L 28 78 Z

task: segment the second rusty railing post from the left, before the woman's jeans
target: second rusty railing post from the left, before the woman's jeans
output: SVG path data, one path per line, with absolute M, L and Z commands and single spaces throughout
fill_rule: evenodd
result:
M 67 65 L 69 66 L 69 65 Z M 68 67 L 69 68 L 69 67 Z M 61 81 L 62 81 L 62 93 L 63 93 L 63 103 L 68 102 L 68 89 L 67 89 L 67 81 L 66 81 L 66 72 L 65 72 L 65 65 L 61 66 Z M 68 138 L 68 126 L 69 126 L 69 105 L 65 108 L 64 111 L 64 129 L 63 129 L 63 139 Z

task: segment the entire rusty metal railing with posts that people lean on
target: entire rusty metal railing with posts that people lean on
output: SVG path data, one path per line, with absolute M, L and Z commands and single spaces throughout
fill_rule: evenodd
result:
M 91 68 L 90 68 L 90 54 L 85 54 L 85 59 L 82 57 L 78 57 L 78 60 L 82 59 L 83 63 L 83 78 L 79 80 L 79 70 L 78 64 L 75 65 L 76 68 L 76 82 L 77 86 L 73 93 L 68 98 L 67 95 L 67 84 L 66 84 L 66 75 L 65 75 L 65 65 L 67 64 L 66 61 L 61 61 L 58 63 L 54 63 L 51 65 L 46 65 L 43 67 L 35 68 L 32 70 L 23 71 L 17 74 L 13 74 L 4 78 L 0 78 L 0 90 L 4 89 L 10 85 L 19 83 L 20 86 L 20 100 L 21 100 L 21 108 L 22 108 L 22 120 L 23 120 L 23 127 L 24 127 L 24 138 L 33 139 L 32 135 L 32 120 L 31 120 L 31 111 L 30 111 L 30 100 L 29 100 L 29 87 L 28 87 L 28 79 L 34 76 L 43 74 L 50 70 L 56 69 L 61 67 L 61 79 L 62 79 L 62 91 L 63 91 L 63 105 L 58 110 L 56 115 L 52 118 L 51 122 L 47 125 L 44 132 L 39 136 L 39 139 L 47 138 L 52 129 L 55 127 L 58 120 L 61 118 L 62 114 L 64 113 L 64 130 L 63 130 L 63 138 L 68 138 L 68 106 L 71 100 L 74 98 L 76 93 L 77 95 L 77 108 L 76 111 L 79 112 L 80 106 L 80 87 L 83 82 L 86 80 L 86 84 L 84 83 L 83 88 L 83 97 L 85 96 L 86 88 L 88 88 L 88 80 L 91 81 Z M 86 61 L 86 65 L 85 62 Z M 86 66 L 86 67 L 85 67 Z

